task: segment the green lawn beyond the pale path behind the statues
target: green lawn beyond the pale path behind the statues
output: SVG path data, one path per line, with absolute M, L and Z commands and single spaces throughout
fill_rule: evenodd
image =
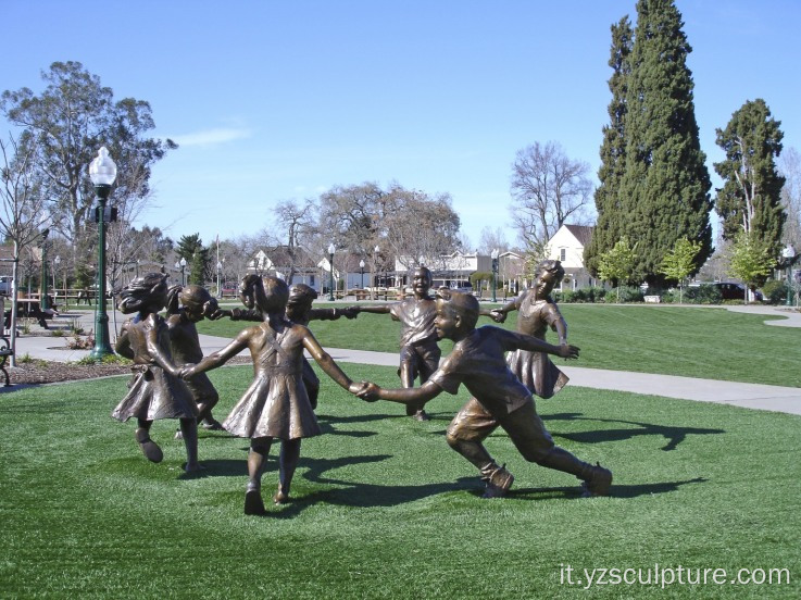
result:
M 316 304 L 315 304 L 316 305 Z M 321 303 L 325 307 L 325 303 Z M 801 329 L 765 325 L 765 315 L 721 308 L 562 304 L 568 339 L 581 348 L 575 364 L 616 371 L 801 387 Z M 514 329 L 517 313 L 504 327 Z M 492 324 L 481 317 L 479 325 Z M 242 322 L 202 322 L 201 333 L 234 337 Z M 400 325 L 389 315 L 314 321 L 323 346 L 397 352 Z M 551 342 L 555 335 L 549 336 Z M 440 342 L 442 353 L 452 345 Z

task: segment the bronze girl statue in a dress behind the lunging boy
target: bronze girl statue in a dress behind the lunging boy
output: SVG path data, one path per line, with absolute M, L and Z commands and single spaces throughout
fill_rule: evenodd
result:
M 506 314 L 520 311 L 517 332 L 545 341 L 550 327 L 559 336 L 559 343 L 567 343 L 567 324 L 559 312 L 551 292 L 564 277 L 562 263 L 554 260 L 542 261 L 537 265 L 535 286 L 490 315 L 497 323 L 503 323 Z M 540 398 L 551 398 L 568 382 L 567 375 L 553 364 L 545 352 L 515 350 L 506 355 L 506 364 L 528 390 Z

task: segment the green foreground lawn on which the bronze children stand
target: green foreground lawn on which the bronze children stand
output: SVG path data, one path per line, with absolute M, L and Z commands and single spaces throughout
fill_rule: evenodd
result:
M 349 325 L 349 324 L 348 324 Z M 347 325 L 346 325 L 347 326 Z M 395 386 L 393 368 L 345 365 Z M 224 417 L 250 367 L 212 373 Z M 364 403 L 323 382 L 325 435 L 305 440 L 295 502 L 246 517 L 247 441 L 201 433 L 202 477 L 186 477 L 176 422 L 153 426 L 150 464 L 134 423 L 109 414 L 126 378 L 0 395 L 2 598 L 573 598 L 574 568 L 786 567 L 789 586 L 668 586 L 679 598 L 801 595 L 801 417 L 570 386 L 538 402 L 556 443 L 615 473 L 613 497 L 526 463 L 502 434 L 487 447 L 514 492 L 481 500 L 474 467 L 443 439 L 466 399 L 434 420 Z M 277 453 L 277 449 L 273 454 Z M 268 497 L 275 459 L 264 476 Z M 700 596 L 699 596 L 700 595 Z M 605 585 L 593 598 L 664 597 Z

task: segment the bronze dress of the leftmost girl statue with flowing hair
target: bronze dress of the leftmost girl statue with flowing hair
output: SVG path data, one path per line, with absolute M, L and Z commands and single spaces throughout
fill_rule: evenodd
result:
M 184 380 L 165 372 L 155 364 L 147 338 L 155 330 L 158 345 L 168 360 L 170 334 L 166 322 L 157 314 L 143 321 L 128 321 L 124 325 L 135 359 L 134 376 L 128 384 L 128 393 L 117 404 L 111 416 L 122 422 L 128 418 L 157 421 L 159 418 L 196 418 L 198 407 Z

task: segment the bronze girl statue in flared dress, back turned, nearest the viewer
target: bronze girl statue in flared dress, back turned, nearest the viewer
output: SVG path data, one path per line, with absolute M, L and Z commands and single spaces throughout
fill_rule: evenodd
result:
M 281 440 L 279 486 L 273 496 L 273 501 L 279 504 L 289 499 L 301 439 L 321 434 L 301 380 L 303 350 L 308 350 L 323 371 L 345 389 L 356 393 L 364 388 L 339 368 L 305 326 L 286 318 L 289 288 L 281 279 L 266 277 L 263 284 L 259 279 L 253 289 L 253 302 L 264 321 L 243 329 L 228 346 L 197 365 L 185 366 L 182 374 L 185 378 L 193 377 L 222 365 L 245 348 L 250 349 L 253 383 L 223 423 L 223 427 L 235 436 L 250 438 L 246 514 L 264 514 L 261 478 L 273 439 Z

